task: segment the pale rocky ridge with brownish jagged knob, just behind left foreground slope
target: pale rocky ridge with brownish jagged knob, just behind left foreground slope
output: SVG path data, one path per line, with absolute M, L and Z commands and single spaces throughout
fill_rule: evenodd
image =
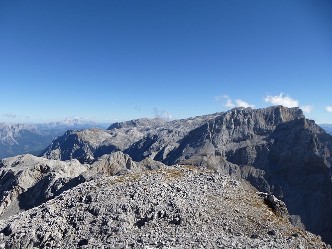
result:
M 49 160 L 30 154 L 0 161 L 0 216 L 40 205 L 80 183 L 109 175 L 134 174 L 162 168 L 162 163 L 137 164 L 120 151 L 103 155 L 91 164 L 77 159 Z

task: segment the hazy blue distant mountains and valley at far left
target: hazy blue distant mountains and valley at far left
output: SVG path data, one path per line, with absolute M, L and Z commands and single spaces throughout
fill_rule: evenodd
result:
M 103 124 L 82 119 L 66 119 L 62 122 L 43 124 L 0 123 L 0 159 L 29 153 L 39 155 L 56 137 L 67 130 L 91 127 L 106 129 Z

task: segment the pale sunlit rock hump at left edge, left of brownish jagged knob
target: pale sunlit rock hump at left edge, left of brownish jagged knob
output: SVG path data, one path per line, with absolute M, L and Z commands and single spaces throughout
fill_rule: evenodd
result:
M 30 154 L 0 161 L 0 215 L 39 205 L 87 168 L 78 160 L 55 161 Z

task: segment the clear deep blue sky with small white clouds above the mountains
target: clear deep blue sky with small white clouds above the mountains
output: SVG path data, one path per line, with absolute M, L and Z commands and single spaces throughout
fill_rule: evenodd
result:
M 298 106 L 332 124 L 331 0 L 0 0 L 0 122 Z

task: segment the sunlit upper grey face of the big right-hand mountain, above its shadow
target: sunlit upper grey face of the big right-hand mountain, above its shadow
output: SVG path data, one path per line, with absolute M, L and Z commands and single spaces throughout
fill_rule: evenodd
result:
M 297 119 L 304 119 L 298 108 L 234 108 L 191 130 L 183 137 L 180 145 L 168 154 L 165 162 L 173 164 L 197 154 L 216 154 L 226 158 L 228 151 L 246 144 L 262 144 L 265 142 L 263 139 L 277 126 Z

